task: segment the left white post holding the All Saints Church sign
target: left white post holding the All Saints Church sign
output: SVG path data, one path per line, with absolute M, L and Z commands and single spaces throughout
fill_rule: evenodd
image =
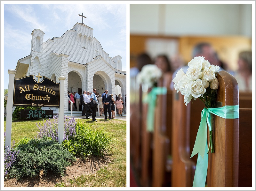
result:
M 14 76 L 16 70 L 8 70 L 9 73 L 9 84 L 8 84 L 8 98 L 6 105 L 6 136 L 5 136 L 5 147 L 11 149 L 11 136 L 12 136 L 12 101 L 13 101 L 13 89 L 14 89 Z

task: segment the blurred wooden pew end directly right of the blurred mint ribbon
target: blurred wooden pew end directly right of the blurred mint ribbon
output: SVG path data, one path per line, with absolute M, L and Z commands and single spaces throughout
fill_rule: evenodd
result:
M 158 82 L 163 86 L 164 82 Z M 170 187 L 172 168 L 171 130 L 172 130 L 172 91 L 167 88 L 166 95 L 158 95 L 155 110 L 155 128 L 153 133 L 152 187 Z

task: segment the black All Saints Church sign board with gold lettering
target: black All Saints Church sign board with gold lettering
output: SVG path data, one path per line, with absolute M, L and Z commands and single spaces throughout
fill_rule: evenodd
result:
M 22 107 L 60 107 L 60 83 L 40 76 L 38 82 L 34 75 L 14 79 L 13 106 Z M 39 82 L 40 77 L 43 80 Z

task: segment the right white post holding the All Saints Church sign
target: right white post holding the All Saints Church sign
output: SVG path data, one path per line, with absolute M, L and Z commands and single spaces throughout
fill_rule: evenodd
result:
M 64 80 L 66 77 L 60 76 L 58 80 L 60 80 L 60 107 L 59 107 L 59 120 L 58 120 L 58 139 L 61 144 L 64 140 L 64 95 L 66 95 L 64 91 Z

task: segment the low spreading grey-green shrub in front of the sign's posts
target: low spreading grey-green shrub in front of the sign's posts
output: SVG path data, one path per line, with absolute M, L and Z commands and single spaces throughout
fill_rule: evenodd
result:
M 49 171 L 64 176 L 67 166 L 76 158 L 52 138 L 30 139 L 27 144 L 20 144 L 16 162 L 9 171 L 10 178 L 37 177 Z

